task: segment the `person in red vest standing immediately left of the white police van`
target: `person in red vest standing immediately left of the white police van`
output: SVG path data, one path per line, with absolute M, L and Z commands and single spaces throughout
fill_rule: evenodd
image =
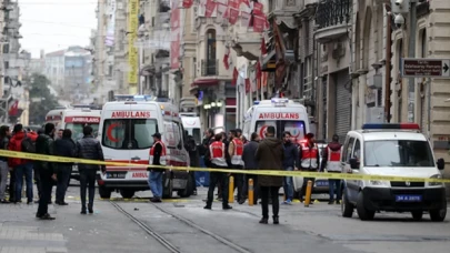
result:
M 342 145 L 339 143 L 339 135 L 334 134 L 332 142 L 330 142 L 327 148 L 323 150 L 322 154 L 322 164 L 321 171 L 327 168 L 327 171 L 330 173 L 341 173 L 341 153 L 342 153 Z M 328 204 L 334 203 L 334 188 L 336 188 L 336 203 L 340 204 L 341 202 L 341 181 L 329 179 L 328 180 L 330 200 Z

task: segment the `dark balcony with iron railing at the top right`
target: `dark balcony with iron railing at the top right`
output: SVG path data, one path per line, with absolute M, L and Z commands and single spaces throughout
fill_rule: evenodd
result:
M 351 16 L 350 0 L 324 0 L 319 3 L 316 13 L 318 30 L 316 39 L 326 43 L 346 36 L 350 27 Z

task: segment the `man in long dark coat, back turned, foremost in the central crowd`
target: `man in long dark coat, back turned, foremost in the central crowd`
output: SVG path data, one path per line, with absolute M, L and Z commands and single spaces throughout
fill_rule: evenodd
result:
M 268 126 L 264 140 L 258 146 L 256 159 L 259 170 L 283 170 L 283 142 L 274 136 L 276 129 Z M 262 219 L 259 223 L 267 224 L 269 220 L 269 194 L 272 199 L 273 224 L 279 224 L 278 212 L 280 202 L 278 192 L 283 185 L 283 178 L 276 175 L 259 175 L 258 183 L 261 192 Z

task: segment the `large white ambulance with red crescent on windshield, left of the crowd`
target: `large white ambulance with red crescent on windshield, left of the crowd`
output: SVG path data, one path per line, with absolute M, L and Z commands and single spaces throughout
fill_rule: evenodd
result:
M 118 101 L 107 102 L 101 113 L 98 139 L 104 159 L 142 166 L 107 166 L 107 172 L 98 178 L 98 185 L 101 198 L 110 198 L 116 190 L 129 199 L 137 191 L 149 190 L 147 165 L 153 133 L 162 135 L 168 166 L 189 166 L 189 154 L 176 105 L 158 102 L 149 95 L 117 95 L 116 99 Z M 173 191 L 180 196 L 189 196 L 192 185 L 188 171 L 166 170 L 163 198 L 171 198 Z

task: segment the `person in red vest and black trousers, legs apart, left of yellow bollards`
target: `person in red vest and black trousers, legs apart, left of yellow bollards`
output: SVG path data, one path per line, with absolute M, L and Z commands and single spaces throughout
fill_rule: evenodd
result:
M 209 145 L 209 152 L 207 151 L 207 158 L 211 161 L 211 166 L 216 169 L 228 169 L 227 163 L 227 149 L 226 144 L 222 142 L 222 134 L 218 133 L 214 135 L 214 142 Z M 222 193 L 222 209 L 232 209 L 228 204 L 228 175 L 226 172 L 210 172 L 209 174 L 209 189 L 208 189 L 208 200 L 204 209 L 211 210 L 212 200 L 214 195 L 216 184 L 220 182 L 221 193 Z

